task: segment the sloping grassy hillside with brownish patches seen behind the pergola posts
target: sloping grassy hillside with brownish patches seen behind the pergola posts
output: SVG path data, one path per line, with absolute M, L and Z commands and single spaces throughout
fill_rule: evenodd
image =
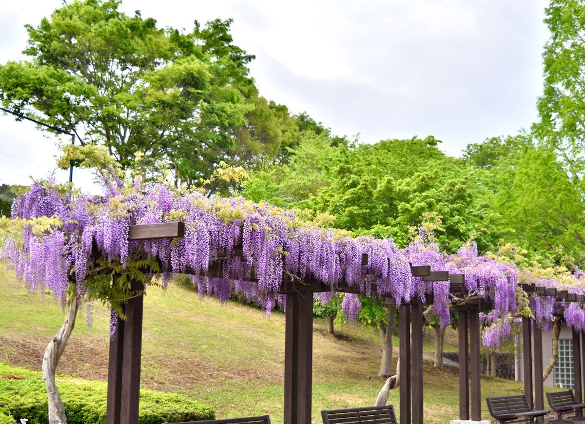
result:
M 40 370 L 44 348 L 57 332 L 63 312 L 50 295 L 30 294 L 14 275 L 0 270 L 0 362 Z M 94 305 L 93 325 L 80 315 L 59 372 L 106 380 L 109 313 Z M 313 422 L 321 409 L 371 405 L 383 385 L 377 377 L 380 344 L 375 330 L 356 325 L 326 334 L 315 320 Z M 428 340 L 429 346 L 432 340 Z M 425 350 L 432 350 L 431 347 Z M 214 406 L 218 418 L 269 413 L 283 422 L 284 316 L 199 298 L 189 288 L 149 289 L 144 301 L 143 387 L 179 392 Z M 425 422 L 458 417 L 456 368 L 435 370 L 425 363 Z M 482 381 L 482 398 L 522 392 L 518 383 Z M 398 405 L 398 390 L 390 403 Z M 484 408 L 485 405 L 484 405 Z M 484 418 L 488 418 L 487 409 Z

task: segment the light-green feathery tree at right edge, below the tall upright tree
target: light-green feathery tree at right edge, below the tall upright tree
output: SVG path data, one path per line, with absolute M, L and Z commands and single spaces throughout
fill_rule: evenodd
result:
M 583 264 L 585 205 L 582 193 L 553 151 L 526 150 L 511 184 L 501 187 L 494 207 L 507 242 L 528 250 L 543 264 Z

